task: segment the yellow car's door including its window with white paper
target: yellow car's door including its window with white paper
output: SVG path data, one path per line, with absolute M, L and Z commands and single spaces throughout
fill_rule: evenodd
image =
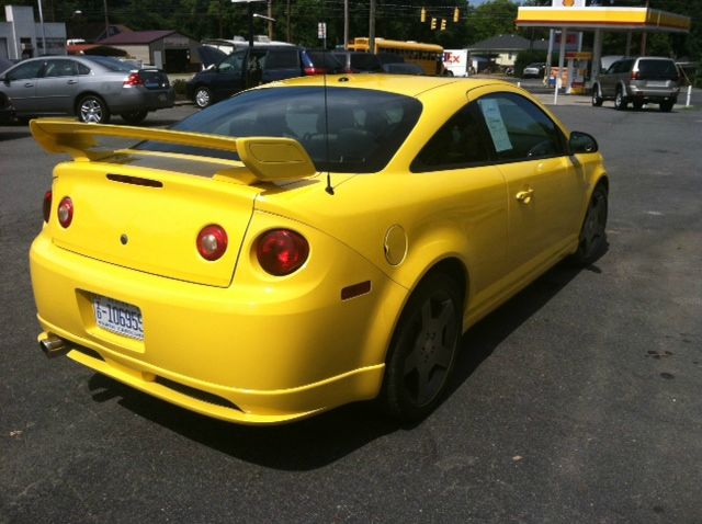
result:
M 517 280 L 539 272 L 575 241 L 585 179 L 566 138 L 535 103 L 509 92 L 477 105 L 508 192 L 508 260 Z

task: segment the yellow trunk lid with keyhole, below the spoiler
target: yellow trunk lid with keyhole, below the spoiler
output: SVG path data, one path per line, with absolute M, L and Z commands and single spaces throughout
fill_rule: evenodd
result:
M 181 281 L 226 287 L 259 189 L 137 164 L 70 162 L 56 168 L 48 223 L 56 246 L 106 263 Z M 73 204 L 68 228 L 56 209 Z M 197 233 L 208 225 L 227 232 L 224 255 L 207 261 Z

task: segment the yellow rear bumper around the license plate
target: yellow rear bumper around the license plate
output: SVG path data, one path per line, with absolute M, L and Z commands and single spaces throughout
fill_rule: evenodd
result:
M 42 233 L 30 252 L 39 338 L 57 335 L 73 361 L 192 411 L 245 424 L 293 421 L 378 394 L 406 296 L 364 259 L 335 260 L 325 265 L 346 276 L 330 267 L 290 293 L 236 278 L 217 288 L 99 262 Z M 373 292 L 340 300 L 349 273 L 371 280 Z M 144 341 L 99 328 L 93 295 L 138 307 Z

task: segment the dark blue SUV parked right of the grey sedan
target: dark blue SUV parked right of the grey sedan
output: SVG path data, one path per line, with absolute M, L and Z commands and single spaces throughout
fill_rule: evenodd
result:
M 206 107 L 261 83 L 340 71 L 341 65 L 327 53 L 292 45 L 257 46 L 239 49 L 197 72 L 188 81 L 188 98 L 196 106 Z

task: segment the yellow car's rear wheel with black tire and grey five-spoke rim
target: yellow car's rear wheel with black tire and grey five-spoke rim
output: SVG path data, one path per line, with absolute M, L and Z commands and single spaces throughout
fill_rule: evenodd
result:
M 403 310 L 387 353 L 381 401 L 392 417 L 414 422 L 441 401 L 462 334 L 462 292 L 443 273 L 429 274 Z

